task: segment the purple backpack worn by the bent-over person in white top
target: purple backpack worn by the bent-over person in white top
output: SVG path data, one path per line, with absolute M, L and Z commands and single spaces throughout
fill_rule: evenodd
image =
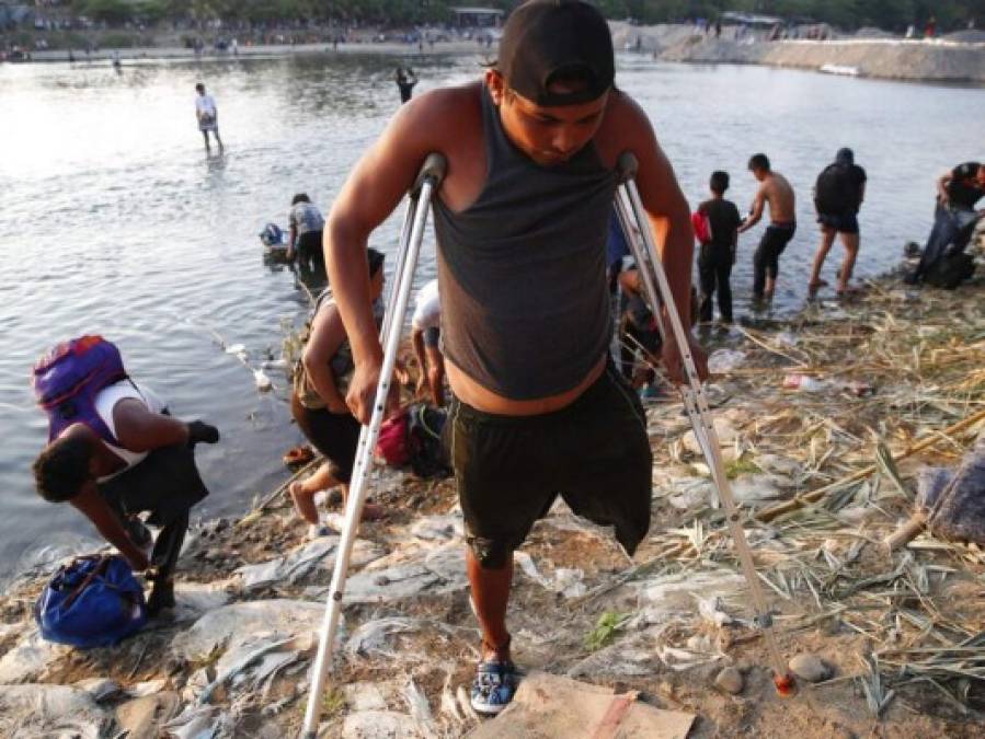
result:
M 126 380 L 119 349 L 102 336 L 80 336 L 59 344 L 34 366 L 34 396 L 48 415 L 48 441 L 72 424 L 85 424 L 100 438 L 118 444 L 95 411 L 96 394 Z

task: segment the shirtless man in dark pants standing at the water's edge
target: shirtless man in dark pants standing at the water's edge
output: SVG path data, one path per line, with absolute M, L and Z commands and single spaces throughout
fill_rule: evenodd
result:
M 759 190 L 748 217 L 738 227 L 738 233 L 748 231 L 758 223 L 763 218 L 764 206 L 769 204 L 769 226 L 753 255 L 753 298 L 771 299 L 777 288 L 780 254 L 797 231 L 793 187 L 787 182 L 787 177 L 769 168 L 766 154 L 754 154 L 749 159 L 749 172 L 760 183 Z

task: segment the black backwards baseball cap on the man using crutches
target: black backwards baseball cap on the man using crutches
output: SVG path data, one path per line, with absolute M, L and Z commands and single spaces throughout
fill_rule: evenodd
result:
M 609 25 L 582 0 L 528 0 L 503 27 L 496 69 L 519 95 L 537 105 L 577 105 L 612 86 L 616 62 Z M 579 77 L 586 85 L 557 93 L 559 78 Z

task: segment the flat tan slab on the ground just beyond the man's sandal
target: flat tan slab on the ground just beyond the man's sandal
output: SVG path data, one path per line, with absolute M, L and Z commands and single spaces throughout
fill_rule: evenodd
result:
M 532 672 L 520 682 L 513 703 L 469 739 L 685 739 L 695 716 L 661 711 L 616 695 L 611 688 Z

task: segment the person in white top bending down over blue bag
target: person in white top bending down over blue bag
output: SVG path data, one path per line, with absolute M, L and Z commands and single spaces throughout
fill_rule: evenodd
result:
M 77 339 L 77 354 L 64 361 L 77 361 L 96 339 L 103 340 Z M 126 378 L 122 365 L 117 377 L 124 379 L 94 392 L 91 406 L 78 400 L 85 391 L 77 386 L 68 420 L 49 412 L 50 441 L 34 461 L 34 478 L 41 497 L 71 504 L 135 570 L 153 570 L 147 611 L 156 615 L 174 607 L 174 569 L 188 512 L 208 495 L 195 465 L 195 444 L 216 443 L 219 431 L 201 420 L 172 417 L 150 388 Z M 150 533 L 137 518 L 145 511 L 150 512 L 147 522 L 161 529 L 149 558 Z

